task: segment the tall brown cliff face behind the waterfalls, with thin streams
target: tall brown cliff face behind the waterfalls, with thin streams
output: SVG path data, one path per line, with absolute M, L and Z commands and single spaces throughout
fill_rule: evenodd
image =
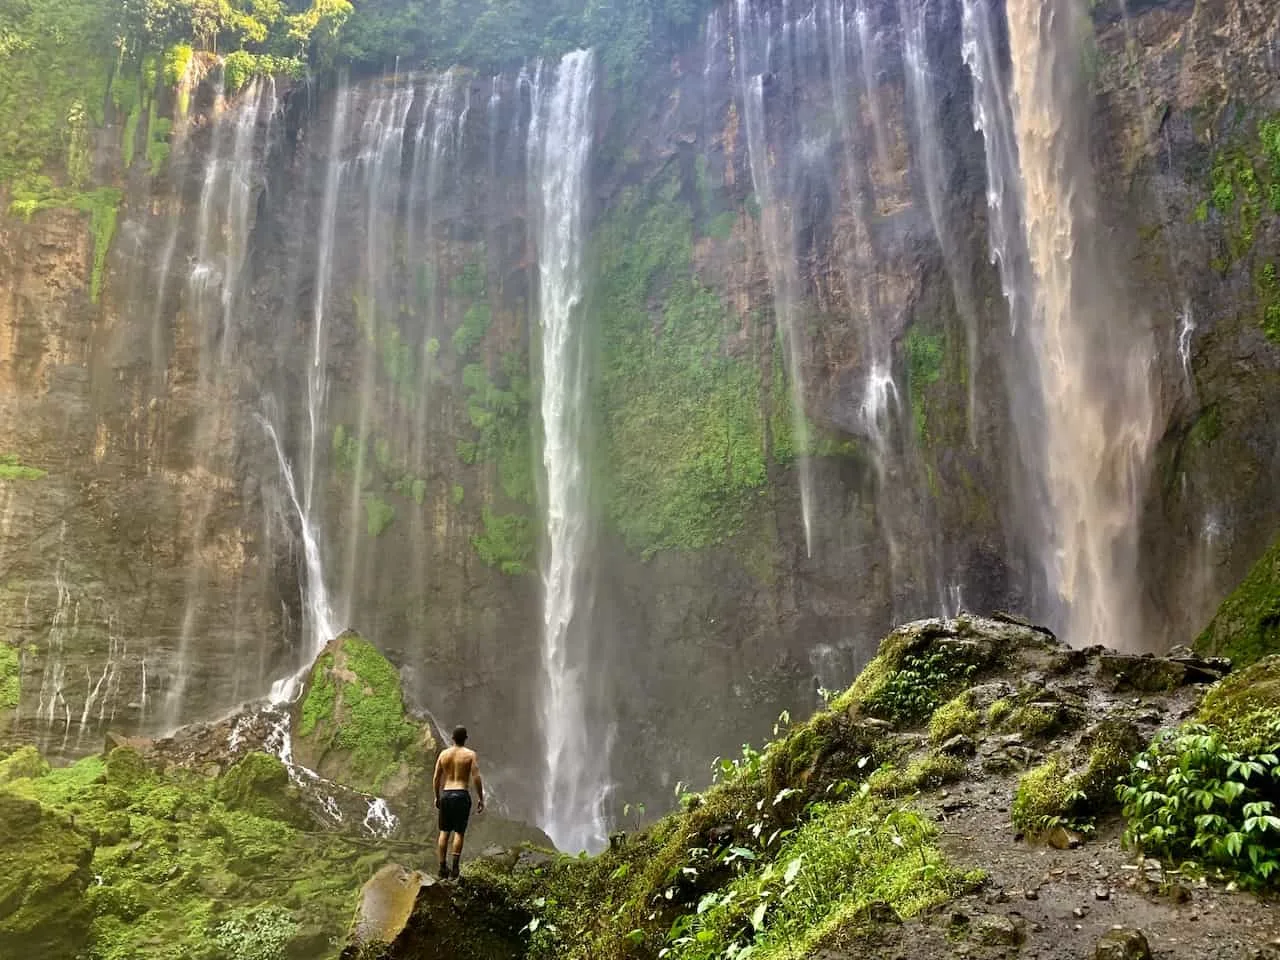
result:
M 812 707 L 893 621 L 963 604 L 1068 623 L 1030 520 L 1052 490 L 1027 438 L 1050 415 L 992 262 L 965 59 L 983 13 L 1005 88 L 1002 12 L 950 0 L 726 6 L 643 86 L 596 87 L 579 628 L 620 799 Z M 1105 247 L 1132 305 L 1108 323 L 1152 344 L 1149 449 L 1120 481 L 1140 627 L 1112 643 L 1157 648 L 1280 524 L 1280 13 L 1103 4 L 1093 26 L 1097 197 L 1075 241 Z M 0 609 L 24 739 L 76 751 L 108 724 L 219 714 L 352 626 L 532 809 L 529 145 L 553 70 L 227 96 L 204 64 L 189 97 L 157 86 L 166 161 L 133 150 L 163 136 L 155 111 L 142 129 L 105 111 L 114 234 L 92 205 L 14 205 Z

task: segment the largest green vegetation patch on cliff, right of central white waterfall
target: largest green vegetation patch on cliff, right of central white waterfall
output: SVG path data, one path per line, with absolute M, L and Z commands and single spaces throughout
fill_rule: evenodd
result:
M 626 191 L 593 238 L 604 504 L 644 554 L 723 543 L 767 480 L 759 357 L 726 349 L 728 316 L 694 273 L 692 236 L 669 179 Z

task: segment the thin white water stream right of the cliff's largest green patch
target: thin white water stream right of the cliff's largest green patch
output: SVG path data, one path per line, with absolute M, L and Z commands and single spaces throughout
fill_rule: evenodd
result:
M 736 0 L 737 46 L 735 70 L 746 120 L 746 150 L 751 187 L 760 206 L 764 259 L 773 288 L 773 312 L 782 338 L 791 399 L 792 449 L 800 474 L 800 509 L 805 552 L 813 556 L 814 480 L 809 457 L 809 419 L 805 416 L 804 344 L 799 329 L 799 276 L 791 212 L 774 188 L 769 145 L 765 138 L 764 73 L 769 68 L 771 23 L 756 19 L 750 0 Z

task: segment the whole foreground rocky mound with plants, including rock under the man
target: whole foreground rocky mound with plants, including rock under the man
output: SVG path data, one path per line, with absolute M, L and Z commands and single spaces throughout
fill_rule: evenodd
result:
M 1280 658 L 1231 673 L 1015 618 L 913 623 L 598 858 L 388 870 L 347 956 L 1272 960 L 1277 748 Z

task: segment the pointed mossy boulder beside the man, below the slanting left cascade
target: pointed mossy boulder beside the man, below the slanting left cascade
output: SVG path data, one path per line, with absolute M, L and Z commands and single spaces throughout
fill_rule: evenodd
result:
M 397 799 L 430 794 L 435 739 L 406 712 L 396 667 L 348 631 L 316 659 L 293 705 L 293 754 L 328 780 Z

